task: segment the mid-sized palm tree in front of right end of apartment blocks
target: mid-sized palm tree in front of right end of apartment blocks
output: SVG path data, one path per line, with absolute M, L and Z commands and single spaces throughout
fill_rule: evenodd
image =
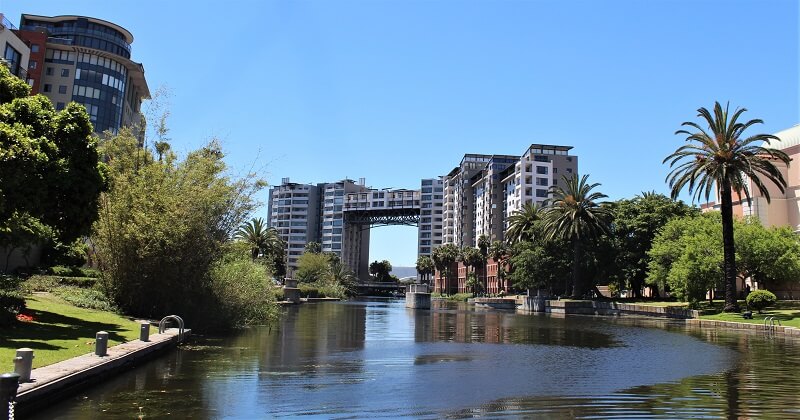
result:
M 564 187 L 550 187 L 549 206 L 544 210 L 544 233 L 547 240 L 572 241 L 572 297 L 580 298 L 586 293 L 581 277 L 581 257 L 585 241 L 608 232 L 610 211 L 597 200 L 605 194 L 592 192 L 600 184 L 589 184 L 589 175 L 578 179 L 578 174 L 562 177 Z M 565 288 L 565 291 L 568 288 Z

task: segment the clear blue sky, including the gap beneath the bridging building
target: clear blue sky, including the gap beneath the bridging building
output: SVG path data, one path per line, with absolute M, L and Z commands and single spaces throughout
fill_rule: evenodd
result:
M 562 144 L 616 200 L 669 192 L 674 132 L 714 101 L 763 119 L 751 134 L 800 122 L 798 3 L 0 0 L 0 12 L 131 31 L 151 91 L 168 92 L 173 149 L 218 138 L 233 173 L 419 188 L 465 153 Z M 370 259 L 413 265 L 416 235 L 374 229 Z

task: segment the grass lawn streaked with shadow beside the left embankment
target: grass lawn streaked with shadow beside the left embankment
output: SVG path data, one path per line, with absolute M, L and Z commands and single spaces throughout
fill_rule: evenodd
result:
M 14 356 L 22 347 L 33 349 L 37 368 L 94 352 L 98 331 L 108 332 L 109 347 L 139 338 L 139 324 L 121 315 L 78 308 L 49 293 L 25 300 L 25 314 L 34 320 L 0 330 L 0 372 L 14 371 Z

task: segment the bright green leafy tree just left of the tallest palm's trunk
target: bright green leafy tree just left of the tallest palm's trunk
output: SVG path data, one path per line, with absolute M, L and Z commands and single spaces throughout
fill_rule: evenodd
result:
M 673 219 L 653 240 L 647 280 L 669 286 L 678 299 L 695 303 L 723 279 L 720 216 L 706 213 Z

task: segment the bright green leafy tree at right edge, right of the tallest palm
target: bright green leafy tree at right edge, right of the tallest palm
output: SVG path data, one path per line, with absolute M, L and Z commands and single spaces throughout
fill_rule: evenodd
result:
M 760 289 L 800 280 L 800 237 L 788 227 L 767 229 L 749 217 L 737 221 L 735 243 L 739 272 Z

